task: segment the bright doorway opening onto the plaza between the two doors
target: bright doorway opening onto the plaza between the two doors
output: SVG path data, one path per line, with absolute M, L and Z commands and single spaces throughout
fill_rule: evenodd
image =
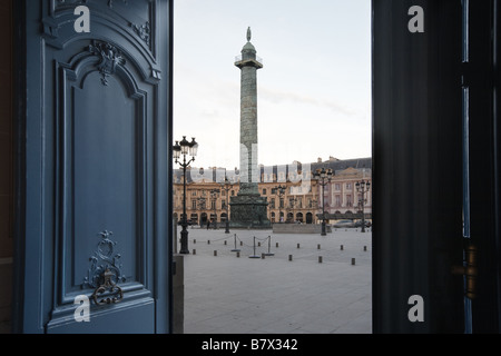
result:
M 193 0 L 174 13 L 174 141 L 198 144 L 186 178 L 173 167 L 174 211 L 200 217 L 186 227 L 185 333 L 371 333 L 371 1 Z M 266 229 L 232 225 L 250 46 Z

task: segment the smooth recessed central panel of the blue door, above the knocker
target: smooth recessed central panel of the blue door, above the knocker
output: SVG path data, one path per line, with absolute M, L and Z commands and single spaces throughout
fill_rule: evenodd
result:
M 143 149 L 135 137 L 135 105 L 117 98 L 122 88 L 116 80 L 110 79 L 109 87 L 104 89 L 98 77 L 96 72 L 89 75 L 88 86 L 84 90 L 75 89 L 73 130 L 77 135 L 72 137 L 73 150 L 68 155 L 73 167 L 66 177 L 71 192 L 68 197 L 71 218 L 65 229 L 67 238 L 73 239 L 68 256 L 77 256 L 72 261 L 75 274 L 71 279 L 84 281 L 81 276 L 87 275 L 96 237 L 100 231 L 109 230 L 119 241 L 117 249 L 124 249 L 121 273 L 128 280 L 137 280 L 132 268 L 137 254 L 135 241 L 141 240 L 143 233 L 140 205 L 136 201 L 140 189 L 135 172 L 143 169 L 138 170 L 135 158 L 136 151 Z M 89 102 L 95 106 L 86 105 Z M 95 108 L 99 108 L 98 112 Z M 71 279 L 67 278 L 68 281 Z

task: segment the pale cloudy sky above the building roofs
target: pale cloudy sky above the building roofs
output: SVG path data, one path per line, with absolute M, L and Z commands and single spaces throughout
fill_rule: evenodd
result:
M 370 0 L 174 2 L 174 140 L 194 167 L 239 167 L 240 70 L 257 71 L 258 164 L 371 157 Z M 177 165 L 175 165 L 177 168 Z

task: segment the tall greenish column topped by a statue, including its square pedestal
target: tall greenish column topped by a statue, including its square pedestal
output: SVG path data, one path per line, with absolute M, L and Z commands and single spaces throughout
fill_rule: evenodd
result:
M 247 43 L 235 66 L 240 69 L 240 182 L 237 196 L 230 200 L 230 226 L 234 228 L 269 228 L 267 201 L 259 195 L 257 184 L 257 69 L 263 63 L 256 57 L 250 43 L 250 28 Z

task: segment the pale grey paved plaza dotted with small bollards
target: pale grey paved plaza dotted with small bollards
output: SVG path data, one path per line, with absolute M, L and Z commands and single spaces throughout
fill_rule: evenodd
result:
M 321 236 L 189 228 L 184 332 L 372 333 L 371 241 L 360 229 Z M 274 256 L 262 258 L 268 250 Z

